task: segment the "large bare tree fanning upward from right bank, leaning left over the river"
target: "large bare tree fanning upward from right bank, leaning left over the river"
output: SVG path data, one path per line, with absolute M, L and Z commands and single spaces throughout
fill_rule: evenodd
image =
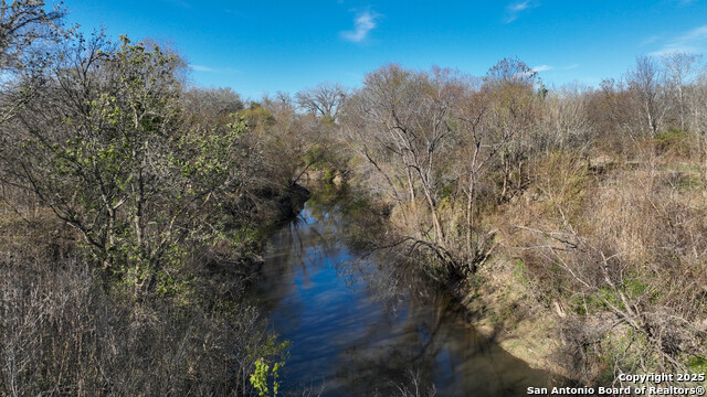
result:
M 428 74 L 387 65 L 366 76 L 346 121 L 349 143 L 382 175 L 403 217 L 412 222 L 419 214 L 430 216 L 429 223 L 412 222 L 414 236 L 405 240 L 431 248 L 446 265 L 456 260 L 447 250 L 439 206 L 452 165 L 453 104 L 463 89 L 451 71 Z

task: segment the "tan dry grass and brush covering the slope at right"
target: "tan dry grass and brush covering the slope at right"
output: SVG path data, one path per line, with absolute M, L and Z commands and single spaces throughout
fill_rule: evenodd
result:
M 658 143 L 644 142 L 672 152 Z M 550 154 L 524 195 L 487 219 L 505 247 L 497 262 L 523 276 L 485 281 L 521 293 L 536 323 L 552 313 L 557 357 L 573 377 L 696 371 L 690 363 L 707 355 L 707 200 L 698 165 L 682 154 L 602 172 L 572 153 Z M 507 304 L 493 291 L 482 299 Z

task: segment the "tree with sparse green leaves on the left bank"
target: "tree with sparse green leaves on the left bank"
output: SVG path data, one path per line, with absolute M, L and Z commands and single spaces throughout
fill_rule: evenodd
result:
M 15 183 L 75 227 L 136 298 L 172 282 L 184 246 L 224 236 L 214 208 L 240 181 L 244 125 L 182 130 L 181 67 L 125 36 L 115 50 L 80 40 L 14 126 Z

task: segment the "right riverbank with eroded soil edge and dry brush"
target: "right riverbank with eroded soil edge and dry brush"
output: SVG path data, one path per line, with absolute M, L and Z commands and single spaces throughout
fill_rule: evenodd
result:
M 673 157 L 661 142 L 643 143 L 652 159 L 644 162 L 618 153 L 588 161 L 572 151 L 535 159 L 535 176 L 521 191 L 481 210 L 477 230 L 488 240 L 475 272 L 441 276 L 445 265 L 420 248 L 424 244 L 399 254 L 429 264 L 433 278 L 453 283 L 447 287 L 468 311 L 469 324 L 532 367 L 602 386 L 619 372 L 675 366 L 701 373 L 701 165 Z M 655 152 L 666 154 L 651 158 Z M 429 213 L 403 214 L 408 207 L 372 200 L 391 208 L 381 216 L 398 236 L 381 245 L 419 230 L 428 242 L 433 238 L 432 226 L 414 228 Z M 439 216 L 454 225 L 461 208 L 445 202 Z M 463 269 L 471 265 L 458 249 L 460 237 L 449 237 L 446 249 L 458 255 L 454 266 Z

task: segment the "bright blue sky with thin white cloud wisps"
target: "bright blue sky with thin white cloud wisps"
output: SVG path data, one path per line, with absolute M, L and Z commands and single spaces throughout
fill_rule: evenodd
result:
M 320 82 L 358 86 L 395 62 L 483 75 L 518 56 L 546 85 L 619 78 L 636 55 L 707 54 L 707 0 L 65 0 L 83 31 L 176 46 L 199 86 L 257 99 Z

